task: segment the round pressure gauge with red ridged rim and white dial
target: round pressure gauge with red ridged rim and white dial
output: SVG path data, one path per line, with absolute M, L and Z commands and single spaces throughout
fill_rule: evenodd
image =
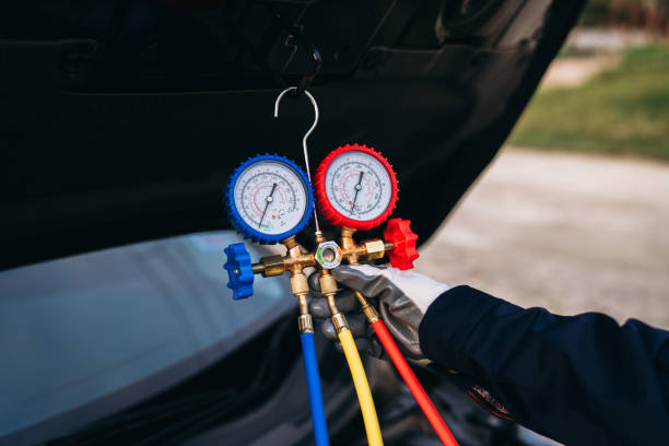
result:
M 397 202 L 392 166 L 372 148 L 347 144 L 331 152 L 316 169 L 316 201 L 336 226 L 367 231 L 385 222 Z

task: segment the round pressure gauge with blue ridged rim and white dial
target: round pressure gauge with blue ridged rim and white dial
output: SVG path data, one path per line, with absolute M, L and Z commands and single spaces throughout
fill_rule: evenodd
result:
M 305 173 L 279 155 L 246 160 L 225 191 L 232 225 L 245 238 L 273 245 L 302 230 L 314 211 L 314 192 Z

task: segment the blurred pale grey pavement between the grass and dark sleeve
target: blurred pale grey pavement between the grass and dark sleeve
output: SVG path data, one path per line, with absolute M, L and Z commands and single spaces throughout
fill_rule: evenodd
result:
M 669 165 L 504 149 L 416 267 L 524 307 L 669 329 Z

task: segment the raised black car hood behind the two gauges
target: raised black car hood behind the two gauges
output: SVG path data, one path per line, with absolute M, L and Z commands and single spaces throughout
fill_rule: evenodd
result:
M 395 214 L 424 242 L 584 0 L 19 3 L 0 7 L 2 268 L 228 227 L 223 186 L 240 161 L 303 163 L 310 104 L 272 116 L 280 89 L 314 70 L 295 31 L 322 55 L 312 165 L 345 143 L 382 151 Z

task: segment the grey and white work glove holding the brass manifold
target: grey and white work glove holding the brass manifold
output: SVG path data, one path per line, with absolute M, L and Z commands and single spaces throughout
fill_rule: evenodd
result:
M 448 285 L 434 281 L 423 274 L 413 271 L 401 271 L 392 267 L 378 268 L 371 265 L 340 266 L 332 270 L 332 273 L 343 289 L 338 294 L 337 302 L 340 310 L 347 315 L 348 320 L 354 316 L 357 320 L 359 316 L 363 316 L 360 312 L 360 305 L 355 303 L 355 296 L 351 291 L 357 290 L 375 306 L 378 306 L 380 317 L 386 324 L 388 331 L 390 331 L 406 355 L 413 360 L 423 359 L 419 341 L 419 326 L 430 304 L 448 291 Z M 309 280 L 309 283 L 312 282 L 313 280 Z M 340 301 L 342 304 L 339 304 Z M 351 301 L 353 301 L 353 305 Z M 347 309 L 344 309 L 344 306 Z M 349 312 L 352 309 L 355 309 L 355 314 L 349 316 Z M 322 296 L 313 298 L 312 314 L 316 318 L 328 317 L 330 315 L 327 302 Z M 368 324 L 364 322 L 368 327 Z M 326 337 L 337 338 L 331 321 L 324 321 L 321 329 Z M 372 332 L 373 330 L 366 333 L 372 339 L 367 340 L 367 344 L 374 344 L 374 341 L 378 343 L 376 337 L 372 337 Z M 365 333 L 361 332 L 361 334 Z

